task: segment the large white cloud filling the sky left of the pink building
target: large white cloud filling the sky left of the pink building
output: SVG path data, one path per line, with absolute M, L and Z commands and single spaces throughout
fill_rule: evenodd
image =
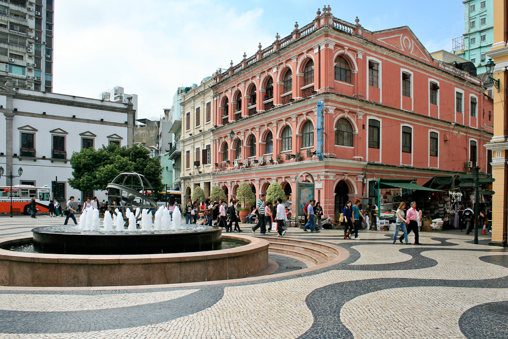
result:
M 83 97 L 115 85 L 137 94 L 138 117 L 158 116 L 181 85 L 236 65 L 274 38 L 263 10 L 211 1 L 58 2 L 54 91 Z

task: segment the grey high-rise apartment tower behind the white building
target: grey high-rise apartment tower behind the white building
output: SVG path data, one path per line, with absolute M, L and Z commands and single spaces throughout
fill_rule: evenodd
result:
M 0 1 L 0 76 L 16 88 L 53 91 L 53 2 Z

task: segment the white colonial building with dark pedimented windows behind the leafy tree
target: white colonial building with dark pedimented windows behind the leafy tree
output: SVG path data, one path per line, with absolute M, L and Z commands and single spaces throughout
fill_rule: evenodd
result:
M 16 89 L 10 79 L 0 84 L 0 166 L 5 174 L 23 174 L 13 184 L 51 187 L 58 178 L 60 198 L 83 198 L 103 192 L 80 192 L 69 186 L 70 158 L 82 148 L 133 144 L 132 103 Z M 10 181 L 3 176 L 0 186 Z

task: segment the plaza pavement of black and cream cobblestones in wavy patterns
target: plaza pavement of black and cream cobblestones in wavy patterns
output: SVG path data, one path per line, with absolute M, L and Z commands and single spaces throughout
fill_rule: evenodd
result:
M 0 237 L 29 236 L 31 228 L 62 219 L 1 217 Z M 333 244 L 346 253 L 316 269 L 304 259 L 270 253 L 278 268 L 244 280 L 0 287 L 0 337 L 508 337 L 508 252 L 488 246 L 490 237 L 481 235 L 475 245 L 459 231 L 422 232 L 421 245 L 403 245 L 393 244 L 388 231 L 363 231 L 362 240 L 344 240 L 341 233 L 288 230 L 287 238 Z

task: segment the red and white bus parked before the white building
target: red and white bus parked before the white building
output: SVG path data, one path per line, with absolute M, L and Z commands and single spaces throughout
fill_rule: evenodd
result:
M 12 187 L 12 191 L 10 190 L 10 186 L 0 186 L 0 213 L 11 212 L 11 194 L 13 213 L 30 214 L 28 205 L 33 197 L 35 197 L 37 204 L 37 212 L 49 212 L 50 187 L 16 185 Z

